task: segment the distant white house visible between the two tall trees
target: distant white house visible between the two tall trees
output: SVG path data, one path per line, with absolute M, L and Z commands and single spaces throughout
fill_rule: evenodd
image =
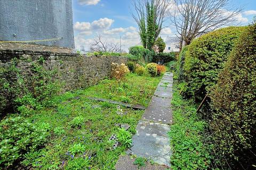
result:
M 167 36 L 165 40 L 165 53 L 170 52 L 180 52 L 180 39 L 178 37 L 169 37 Z

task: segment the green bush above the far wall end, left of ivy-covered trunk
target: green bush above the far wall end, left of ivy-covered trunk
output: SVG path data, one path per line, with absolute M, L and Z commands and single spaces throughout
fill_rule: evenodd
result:
M 137 61 L 144 61 L 150 63 L 153 60 L 154 52 L 142 46 L 133 46 L 129 48 L 129 54 L 136 56 Z

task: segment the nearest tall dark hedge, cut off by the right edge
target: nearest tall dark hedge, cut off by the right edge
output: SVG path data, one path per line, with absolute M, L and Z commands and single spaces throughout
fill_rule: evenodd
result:
M 233 167 L 243 169 L 242 164 L 246 169 L 253 169 L 252 165 L 256 165 L 256 22 L 238 40 L 210 97 L 215 110 L 211 128 L 218 150 Z

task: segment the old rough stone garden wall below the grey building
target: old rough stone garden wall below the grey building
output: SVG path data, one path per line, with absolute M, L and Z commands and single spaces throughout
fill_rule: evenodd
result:
M 111 63 L 126 63 L 121 56 L 84 56 L 69 53 L 33 52 L 30 50 L 0 50 L 0 66 L 7 66 L 13 58 L 18 58 L 17 67 L 26 74 L 27 61 L 37 61 L 43 57 L 47 70 L 57 70 L 55 79 L 63 82 L 63 91 L 76 90 L 97 84 L 110 76 Z

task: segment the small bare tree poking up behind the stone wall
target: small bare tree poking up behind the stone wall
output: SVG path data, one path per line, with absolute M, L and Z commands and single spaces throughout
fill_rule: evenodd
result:
M 102 40 L 101 35 L 94 38 L 94 42 L 90 46 L 92 52 L 113 52 L 117 53 L 120 50 L 118 43 L 108 43 L 107 40 Z

